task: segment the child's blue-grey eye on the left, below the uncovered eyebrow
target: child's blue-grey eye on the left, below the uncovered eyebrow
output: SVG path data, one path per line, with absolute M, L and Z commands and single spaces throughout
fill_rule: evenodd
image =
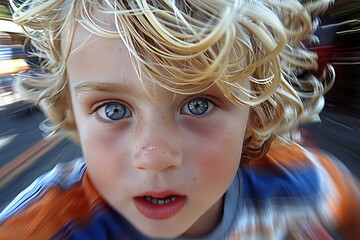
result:
M 106 103 L 96 112 L 107 121 L 118 121 L 132 116 L 131 111 L 125 105 L 116 102 Z

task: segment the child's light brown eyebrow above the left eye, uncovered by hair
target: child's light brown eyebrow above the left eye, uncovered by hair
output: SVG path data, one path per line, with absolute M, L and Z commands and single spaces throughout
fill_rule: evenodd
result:
M 102 83 L 102 82 L 82 82 L 75 87 L 76 95 L 89 92 L 123 92 L 129 91 L 128 87 L 116 84 L 116 83 Z

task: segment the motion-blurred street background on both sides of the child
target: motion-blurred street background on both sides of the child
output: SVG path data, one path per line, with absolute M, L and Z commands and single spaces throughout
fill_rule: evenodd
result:
M 302 144 L 336 156 L 360 178 L 360 1 L 336 1 L 316 34 L 320 43 L 311 48 L 319 69 L 332 64 L 336 81 L 326 94 L 321 122 L 301 128 Z M 58 162 L 81 156 L 80 148 L 64 138 L 43 138 L 44 115 L 14 88 L 13 74 L 37 65 L 29 51 L 30 41 L 11 21 L 8 1 L 0 0 L 0 211 Z

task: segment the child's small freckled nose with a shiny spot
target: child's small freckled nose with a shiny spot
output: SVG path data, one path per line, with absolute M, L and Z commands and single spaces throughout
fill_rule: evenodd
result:
M 135 130 L 134 166 L 137 169 L 161 172 L 181 166 L 182 143 L 175 125 L 164 118 L 139 123 Z

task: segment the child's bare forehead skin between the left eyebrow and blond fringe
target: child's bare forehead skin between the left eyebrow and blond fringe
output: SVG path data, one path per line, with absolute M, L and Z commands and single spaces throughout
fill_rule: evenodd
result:
M 71 53 L 67 61 L 67 73 L 70 87 L 76 89 L 83 84 L 96 86 L 116 86 L 116 89 L 127 89 L 139 96 L 147 93 L 156 99 L 163 94 L 173 92 L 154 84 L 147 78 L 139 78 L 130 58 L 130 53 L 120 38 L 104 38 L 96 36 L 80 25 L 77 26 Z M 156 81 L 161 81 L 156 79 Z M 150 95 L 149 95 L 150 94 Z M 153 98 L 153 100 L 156 100 Z

